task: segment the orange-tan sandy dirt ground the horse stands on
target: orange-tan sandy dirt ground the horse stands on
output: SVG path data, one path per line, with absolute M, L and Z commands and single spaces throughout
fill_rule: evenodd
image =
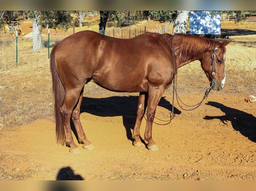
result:
M 28 180 L 255 180 L 255 103 L 244 95 L 211 92 L 193 111 L 174 102 L 167 125 L 171 90 L 161 99 L 153 124 L 159 151 L 132 145 L 137 94 L 85 92 L 81 122 L 94 150 L 79 145 L 80 154 L 55 142 L 53 118 L 42 118 L 5 131 L 1 138 L 1 179 Z M 96 96 L 91 96 L 91 95 Z M 204 93 L 180 94 L 195 104 Z M 165 120 L 165 121 L 163 121 Z M 141 125 L 144 138 L 145 122 Z M 75 142 L 77 143 L 74 134 Z

